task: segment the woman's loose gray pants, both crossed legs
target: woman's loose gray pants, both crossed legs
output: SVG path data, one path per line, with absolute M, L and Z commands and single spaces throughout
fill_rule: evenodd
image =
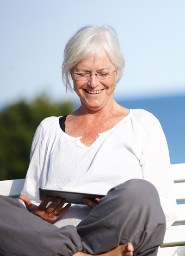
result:
M 0 196 L 0 256 L 100 254 L 128 242 L 134 255 L 156 256 L 165 227 L 158 192 L 141 179 L 111 189 L 76 228 L 58 229 L 17 200 Z

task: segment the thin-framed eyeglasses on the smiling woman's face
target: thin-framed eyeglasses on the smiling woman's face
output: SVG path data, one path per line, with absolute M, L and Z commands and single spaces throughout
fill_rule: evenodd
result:
M 101 70 L 98 71 L 96 73 L 90 73 L 90 72 L 74 72 L 73 74 L 71 74 L 74 79 L 76 80 L 88 80 L 92 75 L 95 75 L 98 79 L 106 79 L 111 77 L 111 75 L 116 72 L 117 69 L 115 71 L 111 71 L 111 69 L 106 69 L 106 70 Z

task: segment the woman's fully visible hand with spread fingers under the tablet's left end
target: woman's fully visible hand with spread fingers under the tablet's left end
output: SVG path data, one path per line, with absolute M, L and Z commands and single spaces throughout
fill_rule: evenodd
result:
M 64 208 L 62 208 L 64 203 L 66 203 L 66 200 L 62 198 L 56 198 L 56 200 L 53 203 L 49 204 L 48 207 L 47 204 L 51 200 L 51 197 L 46 197 L 39 204 L 39 206 L 31 203 L 30 199 L 24 195 L 20 195 L 19 199 L 25 202 L 25 206 L 28 211 L 37 215 L 38 217 L 41 217 L 42 219 L 49 223 L 52 223 L 56 219 L 61 217 L 62 214 L 64 214 L 71 206 L 71 204 L 68 203 Z

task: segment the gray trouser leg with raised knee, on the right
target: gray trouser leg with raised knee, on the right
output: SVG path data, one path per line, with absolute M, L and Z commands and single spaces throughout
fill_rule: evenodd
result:
M 155 187 L 133 179 L 111 189 L 77 226 L 83 252 L 100 254 L 132 243 L 134 255 L 155 256 L 166 221 Z

